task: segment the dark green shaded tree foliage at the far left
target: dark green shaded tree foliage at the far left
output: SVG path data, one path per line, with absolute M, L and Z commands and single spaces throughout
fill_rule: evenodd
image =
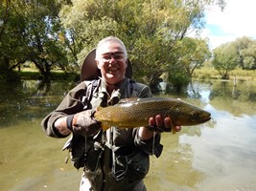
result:
M 4 71 L 32 61 L 44 77 L 55 65 L 67 65 L 64 46 L 59 41 L 60 4 L 51 0 L 6 0 L 0 30 L 0 67 Z

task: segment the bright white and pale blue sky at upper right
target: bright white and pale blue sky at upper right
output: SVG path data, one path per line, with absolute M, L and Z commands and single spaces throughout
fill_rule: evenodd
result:
M 210 48 L 248 36 L 256 39 L 256 1 L 225 0 L 223 11 L 214 7 L 206 11 L 205 29 L 201 37 L 208 37 Z

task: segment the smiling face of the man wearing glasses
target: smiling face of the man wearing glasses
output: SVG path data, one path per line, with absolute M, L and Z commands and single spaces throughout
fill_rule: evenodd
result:
M 117 84 L 125 78 L 127 58 L 118 42 L 105 42 L 98 48 L 97 65 L 107 84 Z

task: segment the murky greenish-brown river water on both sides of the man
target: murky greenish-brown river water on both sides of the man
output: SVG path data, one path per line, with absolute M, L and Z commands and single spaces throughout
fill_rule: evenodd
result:
M 0 190 L 79 190 L 81 170 L 64 159 L 66 138 L 47 138 L 40 121 L 74 83 L 23 81 L 0 88 Z M 151 157 L 150 191 L 256 190 L 256 82 L 194 81 L 181 98 L 212 114 L 202 125 L 162 134 Z

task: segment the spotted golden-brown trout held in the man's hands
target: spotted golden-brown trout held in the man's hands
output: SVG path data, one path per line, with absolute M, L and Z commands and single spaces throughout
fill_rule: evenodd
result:
M 149 118 L 161 115 L 171 117 L 173 126 L 198 125 L 208 121 L 211 114 L 175 98 L 126 98 L 118 104 L 99 107 L 94 117 L 102 122 L 104 130 L 110 126 L 135 128 L 149 125 Z

